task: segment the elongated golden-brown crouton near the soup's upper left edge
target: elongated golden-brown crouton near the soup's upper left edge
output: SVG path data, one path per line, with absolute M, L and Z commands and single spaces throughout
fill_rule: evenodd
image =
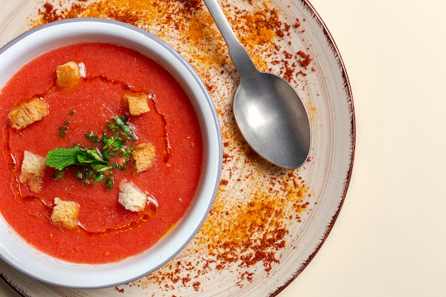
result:
M 45 100 L 43 98 L 35 98 L 11 110 L 8 118 L 11 122 L 11 127 L 20 130 L 38 120 L 43 120 L 48 113 L 48 105 Z

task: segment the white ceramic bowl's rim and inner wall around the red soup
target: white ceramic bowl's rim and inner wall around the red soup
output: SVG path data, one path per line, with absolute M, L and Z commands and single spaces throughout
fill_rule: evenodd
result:
M 170 261 L 197 233 L 214 202 L 222 169 L 222 136 L 212 99 L 199 76 L 177 51 L 135 26 L 103 19 L 71 19 L 47 24 L 0 49 L 0 88 L 32 58 L 52 48 L 82 41 L 115 43 L 157 61 L 189 95 L 203 138 L 203 170 L 197 197 L 164 239 L 137 256 L 111 264 L 73 264 L 43 254 L 18 236 L 0 215 L 0 255 L 24 273 L 73 288 L 115 286 L 146 275 Z

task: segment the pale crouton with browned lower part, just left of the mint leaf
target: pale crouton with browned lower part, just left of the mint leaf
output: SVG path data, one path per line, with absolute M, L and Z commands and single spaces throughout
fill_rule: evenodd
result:
M 45 174 L 45 157 L 35 155 L 27 150 L 21 163 L 20 182 L 28 182 L 31 192 L 39 192 Z

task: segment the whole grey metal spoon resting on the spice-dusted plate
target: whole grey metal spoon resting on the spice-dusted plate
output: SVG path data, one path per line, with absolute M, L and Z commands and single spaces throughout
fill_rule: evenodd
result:
M 232 31 L 217 0 L 204 0 L 222 33 L 239 72 L 234 116 L 251 148 L 280 167 L 304 165 L 311 145 L 311 128 L 301 98 L 286 80 L 256 69 Z

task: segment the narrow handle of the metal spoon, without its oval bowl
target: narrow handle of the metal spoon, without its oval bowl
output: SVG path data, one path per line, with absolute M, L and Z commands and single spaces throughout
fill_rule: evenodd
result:
M 252 63 L 252 60 L 251 58 L 249 58 L 246 49 L 239 42 L 237 36 L 235 36 L 234 31 L 232 31 L 231 25 L 229 25 L 229 22 L 227 21 L 226 16 L 224 16 L 224 13 L 220 8 L 217 0 L 203 1 L 204 4 L 206 4 L 207 9 L 211 13 L 212 19 L 214 19 L 215 24 L 217 24 L 220 33 L 222 33 L 224 41 L 226 41 L 227 43 L 227 46 L 229 48 L 229 56 L 231 57 L 235 68 L 237 68 L 240 78 L 245 77 L 248 74 L 252 75 L 252 73 L 255 73 L 253 72 L 256 71 L 254 63 Z

